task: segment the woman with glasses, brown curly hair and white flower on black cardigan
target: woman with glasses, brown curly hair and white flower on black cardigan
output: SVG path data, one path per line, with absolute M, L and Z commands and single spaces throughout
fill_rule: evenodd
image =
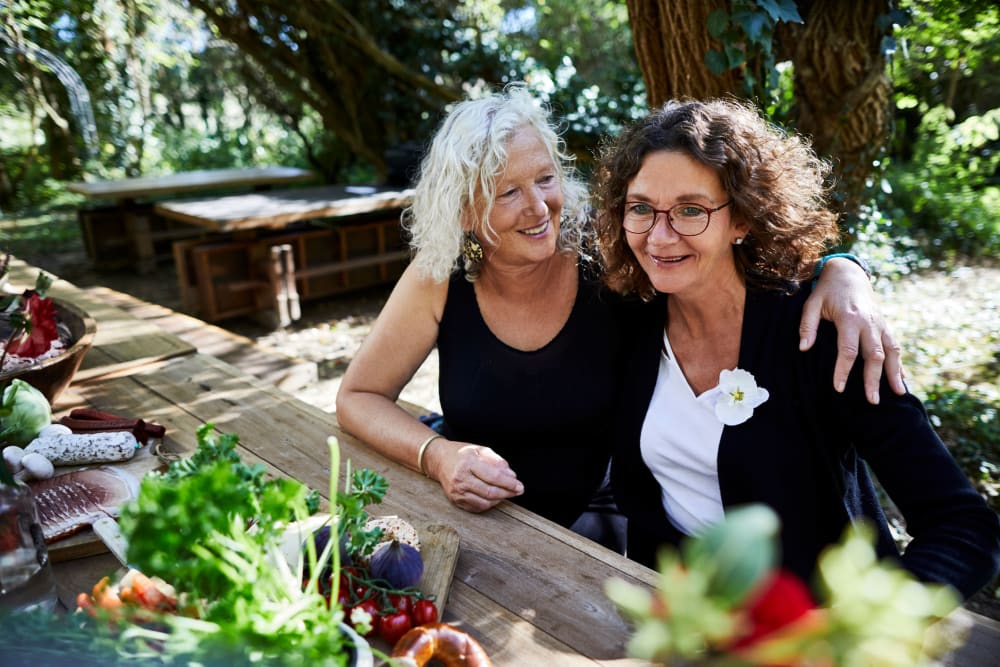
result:
M 829 382 L 836 332 L 799 352 L 813 266 L 837 239 L 828 167 L 733 101 L 670 102 L 606 147 L 595 187 L 608 283 L 641 299 L 625 360 L 612 486 L 629 556 L 649 565 L 764 503 L 784 565 L 810 582 L 852 521 L 882 555 L 970 596 L 1000 558 L 996 514 L 911 394 Z M 868 469 L 902 511 L 902 555 Z

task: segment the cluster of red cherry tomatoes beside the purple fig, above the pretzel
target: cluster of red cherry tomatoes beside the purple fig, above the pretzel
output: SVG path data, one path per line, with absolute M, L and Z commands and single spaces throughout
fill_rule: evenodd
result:
M 331 581 L 320 591 L 330 604 L 333 595 Z M 438 610 L 434 602 L 416 588 L 393 588 L 382 579 L 372 579 L 359 567 L 345 567 L 340 572 L 337 603 L 344 610 L 348 623 L 355 625 L 355 610 L 362 610 L 371 617 L 368 639 L 381 637 L 390 646 L 411 628 L 437 623 Z

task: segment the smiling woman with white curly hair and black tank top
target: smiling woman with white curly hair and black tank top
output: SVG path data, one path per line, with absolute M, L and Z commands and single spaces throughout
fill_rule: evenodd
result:
M 404 215 L 413 261 L 337 395 L 344 428 L 463 509 L 512 499 L 573 526 L 607 473 L 621 369 L 618 300 L 601 289 L 585 204 L 548 113 L 523 87 L 457 104 Z M 824 276 L 814 320 L 827 309 L 838 321 L 845 357 L 859 336 L 874 341 L 877 377 L 886 334 L 867 278 L 843 263 Z M 396 404 L 435 346 L 440 433 Z

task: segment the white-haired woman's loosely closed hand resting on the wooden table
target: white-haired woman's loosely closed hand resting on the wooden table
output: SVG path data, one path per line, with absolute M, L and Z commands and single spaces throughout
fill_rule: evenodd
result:
M 438 439 L 425 460 L 448 500 L 469 512 L 485 512 L 524 493 L 524 484 L 507 461 L 489 447 Z

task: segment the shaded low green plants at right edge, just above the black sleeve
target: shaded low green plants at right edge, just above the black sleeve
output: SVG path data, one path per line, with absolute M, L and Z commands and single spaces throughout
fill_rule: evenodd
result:
M 1000 512 L 1000 397 L 935 386 L 924 406 L 955 460 Z

